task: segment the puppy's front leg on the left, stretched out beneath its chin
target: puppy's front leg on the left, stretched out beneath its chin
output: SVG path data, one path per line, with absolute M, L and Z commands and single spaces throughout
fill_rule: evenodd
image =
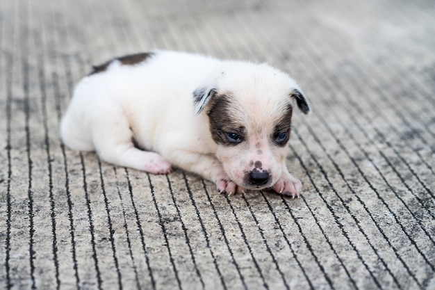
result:
M 185 150 L 170 152 L 168 159 L 186 170 L 211 180 L 217 186 L 217 191 L 232 195 L 234 193 L 245 193 L 245 188 L 238 186 L 227 173 L 224 172 L 222 164 L 214 156 L 199 154 Z

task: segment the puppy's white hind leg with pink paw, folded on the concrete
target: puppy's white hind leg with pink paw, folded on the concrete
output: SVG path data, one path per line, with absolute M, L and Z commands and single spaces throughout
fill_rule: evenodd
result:
M 95 121 L 93 143 L 102 160 L 153 174 L 166 174 L 170 163 L 160 154 L 139 150 L 133 144 L 133 132 L 120 108 L 105 111 L 108 118 Z

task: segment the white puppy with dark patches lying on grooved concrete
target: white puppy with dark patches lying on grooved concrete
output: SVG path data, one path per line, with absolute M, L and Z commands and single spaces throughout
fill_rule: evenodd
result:
M 153 51 L 95 66 L 60 124 L 72 150 L 153 174 L 195 172 L 220 193 L 272 188 L 299 196 L 286 168 L 297 83 L 267 64 Z

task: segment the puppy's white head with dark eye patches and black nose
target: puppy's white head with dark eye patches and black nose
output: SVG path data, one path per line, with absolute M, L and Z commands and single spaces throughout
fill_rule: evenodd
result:
M 231 62 L 193 95 L 228 177 L 244 188 L 273 186 L 285 168 L 294 106 L 311 110 L 297 83 L 269 65 Z

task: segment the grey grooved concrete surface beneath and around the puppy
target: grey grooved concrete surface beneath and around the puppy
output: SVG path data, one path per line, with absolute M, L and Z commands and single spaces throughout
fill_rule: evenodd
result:
M 435 289 L 434 15 L 429 0 L 0 1 L 0 289 Z M 90 65 L 154 48 L 299 81 L 302 198 L 227 198 L 59 143 Z

